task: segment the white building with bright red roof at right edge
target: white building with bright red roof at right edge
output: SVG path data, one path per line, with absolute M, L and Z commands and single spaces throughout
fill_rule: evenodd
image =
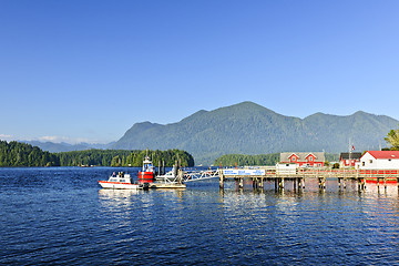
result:
M 360 170 L 399 170 L 399 151 L 367 151 L 356 164 Z

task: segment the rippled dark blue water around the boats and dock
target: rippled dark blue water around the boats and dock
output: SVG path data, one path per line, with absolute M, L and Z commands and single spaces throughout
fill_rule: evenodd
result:
M 0 168 L 0 264 L 399 264 L 396 185 L 100 190 L 113 171 L 124 168 Z

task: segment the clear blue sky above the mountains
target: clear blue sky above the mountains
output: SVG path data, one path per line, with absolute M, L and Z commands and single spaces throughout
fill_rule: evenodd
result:
M 0 139 L 108 143 L 253 101 L 399 120 L 399 1 L 0 0 Z

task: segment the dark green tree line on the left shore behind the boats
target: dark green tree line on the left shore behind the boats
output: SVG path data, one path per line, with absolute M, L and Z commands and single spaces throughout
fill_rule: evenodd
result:
M 0 141 L 0 167 L 22 166 L 142 166 L 149 155 L 157 165 L 164 162 L 171 167 L 180 161 L 183 167 L 194 166 L 193 156 L 181 150 L 167 151 L 125 151 L 125 150 L 86 150 L 50 153 L 38 146 L 12 141 Z

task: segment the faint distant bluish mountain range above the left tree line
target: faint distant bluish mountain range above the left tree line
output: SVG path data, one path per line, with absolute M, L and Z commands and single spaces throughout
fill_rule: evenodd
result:
M 72 151 L 84 151 L 91 149 L 108 149 L 113 145 L 114 142 L 109 144 L 91 144 L 91 143 L 78 143 L 78 144 L 69 144 L 65 142 L 53 143 L 53 142 L 40 142 L 40 141 L 23 141 L 24 143 L 31 144 L 33 146 L 38 146 L 43 151 L 48 151 L 51 153 L 58 152 L 72 152 Z

